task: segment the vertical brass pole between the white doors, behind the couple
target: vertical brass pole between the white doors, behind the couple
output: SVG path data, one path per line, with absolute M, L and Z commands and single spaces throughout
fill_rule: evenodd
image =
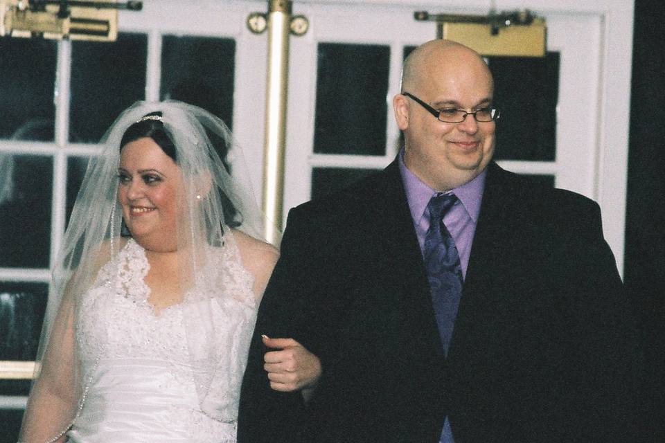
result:
M 265 238 L 278 242 L 284 198 L 284 146 L 289 66 L 290 0 L 268 1 L 268 69 L 263 143 Z

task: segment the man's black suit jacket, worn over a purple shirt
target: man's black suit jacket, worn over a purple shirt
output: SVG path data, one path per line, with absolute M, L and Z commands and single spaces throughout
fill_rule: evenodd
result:
M 291 210 L 242 384 L 238 441 L 635 441 L 632 309 L 591 200 L 490 164 L 447 358 L 396 162 Z M 260 334 L 323 375 L 269 389 Z

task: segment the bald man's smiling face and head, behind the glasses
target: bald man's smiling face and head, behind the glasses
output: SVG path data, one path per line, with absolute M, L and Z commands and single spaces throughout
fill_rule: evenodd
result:
M 416 81 L 404 89 L 438 111 L 467 112 L 491 107 L 494 92 L 486 64 L 459 46 L 433 51 L 420 63 Z M 478 122 L 467 115 L 459 123 L 445 123 L 405 96 L 396 98 L 396 106 L 404 110 L 400 129 L 405 133 L 405 165 L 434 190 L 471 181 L 492 159 L 494 121 Z

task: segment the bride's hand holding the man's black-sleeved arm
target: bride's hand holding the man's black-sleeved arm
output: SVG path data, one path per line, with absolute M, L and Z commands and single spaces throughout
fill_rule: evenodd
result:
M 263 336 L 263 344 L 274 349 L 263 357 L 272 389 L 291 392 L 312 388 L 321 377 L 319 358 L 294 339 Z

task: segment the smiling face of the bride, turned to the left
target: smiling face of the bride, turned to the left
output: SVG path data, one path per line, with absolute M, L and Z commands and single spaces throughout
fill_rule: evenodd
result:
M 177 248 L 180 168 L 152 138 L 127 143 L 118 168 L 118 201 L 132 237 L 152 251 Z

